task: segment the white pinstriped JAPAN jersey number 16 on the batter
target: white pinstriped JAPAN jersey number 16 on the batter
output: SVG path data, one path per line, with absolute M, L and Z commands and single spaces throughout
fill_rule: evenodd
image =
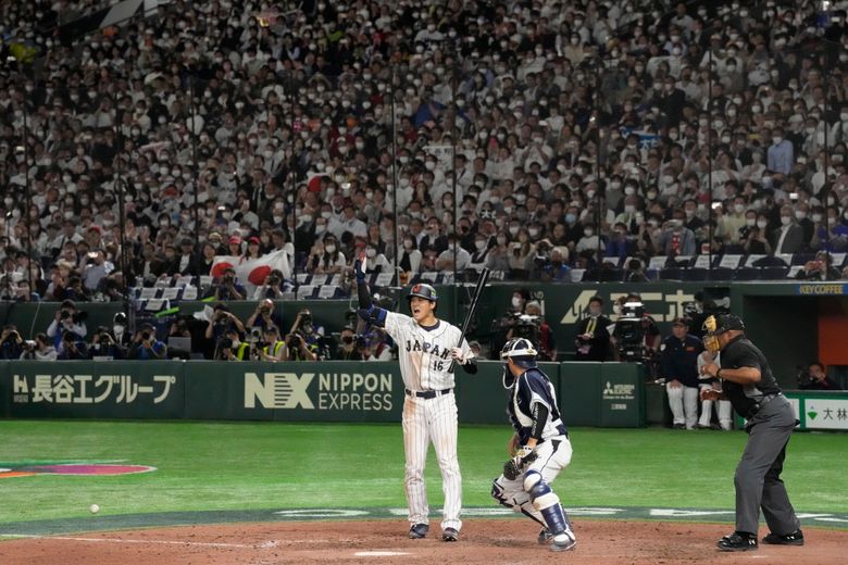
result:
M 459 342 L 462 330 L 444 319 L 424 327 L 412 317 L 386 313 L 386 332 L 398 344 L 398 360 L 403 385 L 410 390 L 444 390 L 453 388 L 450 351 Z M 459 346 L 465 357 L 471 349 L 465 339 Z

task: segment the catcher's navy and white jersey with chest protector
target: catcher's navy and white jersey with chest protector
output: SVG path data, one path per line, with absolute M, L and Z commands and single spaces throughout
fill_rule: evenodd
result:
M 509 403 L 510 422 L 524 444 L 533 428 L 533 405 L 541 403 L 548 409 L 548 422 L 541 432 L 541 441 L 566 434 L 557 406 L 557 393 L 547 375 L 538 368 L 528 368 L 512 385 L 512 401 Z

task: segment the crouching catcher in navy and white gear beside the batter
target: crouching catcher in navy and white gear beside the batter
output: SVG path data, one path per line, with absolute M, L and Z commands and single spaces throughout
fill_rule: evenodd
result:
M 508 341 L 500 352 L 508 412 L 515 428 L 510 460 L 495 479 L 491 495 L 500 504 L 541 525 L 539 544 L 551 551 L 573 550 L 574 531 L 550 484 L 571 462 L 571 442 L 548 377 L 536 366 L 537 351 L 525 338 Z

